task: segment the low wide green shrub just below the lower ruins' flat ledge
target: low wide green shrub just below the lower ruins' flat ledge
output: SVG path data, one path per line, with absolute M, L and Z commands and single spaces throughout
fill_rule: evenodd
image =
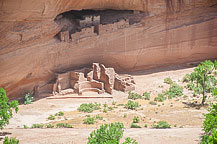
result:
M 100 104 L 97 103 L 89 103 L 89 104 L 81 104 L 78 108 L 78 111 L 91 113 L 94 110 L 100 109 Z

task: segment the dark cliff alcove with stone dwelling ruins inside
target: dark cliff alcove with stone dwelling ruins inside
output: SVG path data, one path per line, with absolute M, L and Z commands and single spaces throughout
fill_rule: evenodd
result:
M 94 34 L 99 35 L 102 25 L 115 24 L 121 21 L 133 25 L 139 23 L 145 16 L 146 13 L 134 10 L 71 10 L 57 15 L 54 19 L 62 34 L 58 33 L 56 36 L 60 40 L 69 41 L 77 32 L 85 31 L 90 34 L 92 30 Z M 124 27 L 126 26 L 121 28 Z M 88 36 L 88 34 L 86 35 Z

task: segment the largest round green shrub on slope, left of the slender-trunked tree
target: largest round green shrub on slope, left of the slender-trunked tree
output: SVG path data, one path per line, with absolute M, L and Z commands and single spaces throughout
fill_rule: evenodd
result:
M 173 83 L 172 85 L 170 85 L 169 90 L 167 90 L 165 94 L 168 96 L 169 99 L 172 99 L 174 97 L 182 96 L 183 89 L 177 83 Z

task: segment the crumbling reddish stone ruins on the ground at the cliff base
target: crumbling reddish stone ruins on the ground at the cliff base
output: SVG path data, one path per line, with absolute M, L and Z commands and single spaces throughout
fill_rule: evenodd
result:
M 45 90 L 48 89 L 48 90 Z M 38 93 L 49 92 L 56 94 L 107 92 L 112 94 L 113 90 L 132 91 L 135 90 L 135 82 L 132 76 L 119 76 L 114 68 L 106 68 L 103 64 L 93 63 L 92 68 L 84 68 L 57 74 L 56 79 L 38 89 Z

